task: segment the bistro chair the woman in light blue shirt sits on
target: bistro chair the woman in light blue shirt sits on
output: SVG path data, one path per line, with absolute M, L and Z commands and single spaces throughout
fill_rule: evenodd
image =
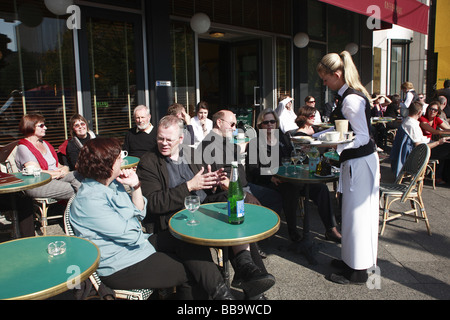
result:
M 66 210 L 64 211 L 64 231 L 66 235 L 68 236 L 75 236 L 75 233 L 73 232 L 72 225 L 70 224 L 70 206 L 72 204 L 73 199 L 75 196 L 72 196 L 69 201 L 67 202 Z M 102 284 L 102 281 L 100 280 L 100 277 L 98 276 L 97 272 L 94 272 L 90 277 L 89 280 L 91 281 L 93 287 L 95 288 L 95 291 L 99 293 L 100 286 L 105 284 Z M 116 299 L 126 299 L 126 300 L 147 300 L 153 293 L 152 289 L 131 289 L 131 290 L 113 290 L 115 294 Z

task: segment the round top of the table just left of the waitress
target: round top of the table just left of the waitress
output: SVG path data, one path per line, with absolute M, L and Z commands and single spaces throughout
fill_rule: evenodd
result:
M 332 173 L 330 176 L 319 176 L 315 173 L 310 173 L 307 164 L 297 165 L 296 171 L 297 173 L 294 175 L 293 165 L 287 168 L 287 173 L 285 167 L 279 167 L 275 176 L 283 181 L 291 183 L 326 183 L 337 181 L 339 179 L 338 173 Z

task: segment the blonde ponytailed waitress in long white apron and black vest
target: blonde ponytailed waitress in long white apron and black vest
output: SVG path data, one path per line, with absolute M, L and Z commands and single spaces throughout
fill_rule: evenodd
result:
M 329 279 L 340 284 L 363 284 L 367 269 L 376 267 L 380 166 L 370 134 L 369 94 L 347 51 L 325 55 L 317 66 L 323 84 L 341 97 L 338 118 L 347 119 L 355 139 L 338 145 L 342 193 L 342 260 L 333 260 L 338 273 Z

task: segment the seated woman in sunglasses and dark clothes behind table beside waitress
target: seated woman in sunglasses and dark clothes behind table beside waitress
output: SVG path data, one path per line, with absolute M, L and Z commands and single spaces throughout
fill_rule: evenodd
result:
M 312 107 L 312 109 L 315 110 L 314 107 Z M 314 121 L 314 112 L 312 113 L 312 121 Z M 257 119 L 257 128 L 259 129 L 259 135 L 264 137 L 262 141 L 267 142 L 267 151 L 260 152 L 260 150 L 258 150 L 258 152 L 252 152 L 251 154 L 250 152 L 247 152 L 247 178 L 253 183 L 275 189 L 281 193 L 289 237 L 292 241 L 299 241 L 301 237 L 297 231 L 296 211 L 298 209 L 299 197 L 304 194 L 304 188 L 299 185 L 282 182 L 272 175 L 261 174 L 261 169 L 270 166 L 269 159 L 273 159 L 273 156 L 275 156 L 277 157 L 276 161 L 281 163 L 281 158 L 289 157 L 293 149 L 287 135 L 279 132 L 278 125 L 278 116 L 272 109 L 268 108 L 261 111 Z M 260 139 L 261 138 L 254 140 Z M 279 154 L 272 155 L 271 150 L 275 146 L 278 148 Z M 261 148 L 261 145 L 258 147 Z M 277 148 L 275 148 L 275 150 L 277 150 Z M 262 159 L 264 155 L 267 155 L 269 159 Z M 249 157 L 258 157 L 258 161 L 255 161 L 255 159 L 251 159 L 250 161 Z M 336 228 L 337 224 L 333 214 L 330 192 L 327 185 L 323 183 L 311 184 L 310 197 L 318 206 L 320 218 L 326 229 L 325 238 L 327 240 L 340 242 L 341 235 Z

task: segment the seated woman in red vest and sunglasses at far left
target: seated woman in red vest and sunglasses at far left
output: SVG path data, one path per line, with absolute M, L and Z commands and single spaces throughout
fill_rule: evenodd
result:
M 79 179 L 69 167 L 58 162 L 58 156 L 50 143 L 43 140 L 47 127 L 45 119 L 40 114 L 26 114 L 19 123 L 19 131 L 25 138 L 19 141 L 16 153 L 16 165 L 19 170 L 34 166 L 52 176 L 52 181 L 25 193 L 33 198 L 54 198 L 67 200 L 72 197 L 80 186 Z

